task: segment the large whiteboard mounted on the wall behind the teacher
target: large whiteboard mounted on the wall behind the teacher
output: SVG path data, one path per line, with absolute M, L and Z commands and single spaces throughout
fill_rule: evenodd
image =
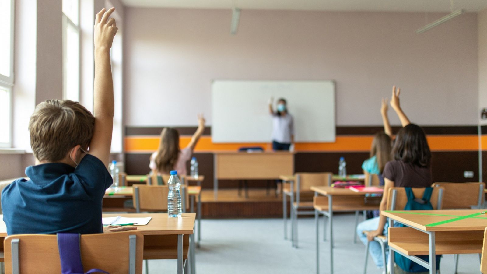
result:
M 335 142 L 334 81 L 214 80 L 211 87 L 214 143 L 270 142 L 268 101 L 285 98 L 296 142 Z

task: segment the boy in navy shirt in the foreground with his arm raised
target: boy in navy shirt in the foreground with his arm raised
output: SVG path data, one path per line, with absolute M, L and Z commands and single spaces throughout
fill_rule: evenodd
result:
M 7 234 L 103 233 L 101 213 L 113 128 L 113 83 L 110 48 L 117 32 L 102 9 L 94 25 L 94 113 L 70 100 L 37 105 L 29 132 L 36 165 L 30 180 L 18 179 L 1 193 Z M 136 227 L 106 227 L 106 231 Z

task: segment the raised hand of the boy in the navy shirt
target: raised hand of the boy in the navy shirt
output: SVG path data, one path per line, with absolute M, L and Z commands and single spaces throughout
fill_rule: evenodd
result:
M 112 47 L 113 37 L 118 30 L 115 19 L 109 19 L 114 10 L 115 8 L 110 8 L 107 11 L 103 8 L 96 14 L 94 22 L 95 50 L 110 50 Z

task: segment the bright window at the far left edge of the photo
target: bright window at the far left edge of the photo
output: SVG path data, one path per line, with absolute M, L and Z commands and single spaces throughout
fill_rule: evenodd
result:
M 0 0 L 0 147 L 12 146 L 14 0 Z

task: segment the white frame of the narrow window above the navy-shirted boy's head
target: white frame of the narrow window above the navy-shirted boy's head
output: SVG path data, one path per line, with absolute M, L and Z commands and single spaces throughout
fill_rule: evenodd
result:
M 64 12 L 62 12 L 62 78 L 63 78 L 63 88 L 62 88 L 62 98 L 63 99 L 68 99 L 66 98 L 67 90 L 66 90 L 66 78 L 67 78 L 67 29 L 68 29 L 68 24 L 73 27 L 78 35 L 78 86 L 77 86 L 77 93 L 76 93 L 76 100 L 80 100 L 80 93 L 81 93 L 81 28 L 79 26 L 80 22 L 80 1 L 78 0 L 78 22 L 75 23 L 73 22 Z M 73 98 L 69 98 L 73 99 Z

